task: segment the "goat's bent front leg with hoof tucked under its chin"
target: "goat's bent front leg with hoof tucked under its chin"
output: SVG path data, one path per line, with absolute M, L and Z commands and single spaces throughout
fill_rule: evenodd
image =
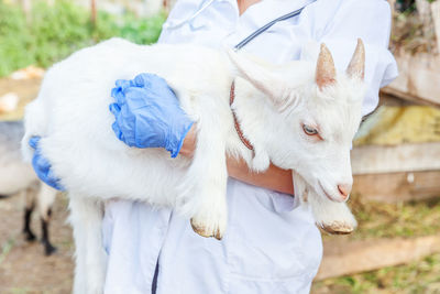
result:
M 298 174 L 294 173 L 295 195 L 309 205 L 318 227 L 331 235 L 348 235 L 358 222 L 345 203 L 336 203 L 318 195 Z

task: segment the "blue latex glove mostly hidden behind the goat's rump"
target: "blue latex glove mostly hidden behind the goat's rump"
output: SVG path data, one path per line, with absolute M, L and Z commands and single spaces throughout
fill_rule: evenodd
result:
M 59 183 L 59 178 L 56 177 L 52 172 L 51 163 L 48 162 L 47 159 L 45 159 L 41 154 L 41 149 L 38 146 L 40 139 L 41 139 L 40 137 L 32 137 L 29 140 L 29 145 L 35 150 L 34 155 L 32 157 L 32 166 L 34 167 L 34 171 L 41 181 L 43 181 L 53 188 L 65 190 L 65 188 Z

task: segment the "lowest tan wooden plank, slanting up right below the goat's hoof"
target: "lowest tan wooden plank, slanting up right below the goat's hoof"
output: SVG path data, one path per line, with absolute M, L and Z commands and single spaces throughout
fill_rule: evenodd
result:
M 369 241 L 338 238 L 324 242 L 322 263 L 315 280 L 404 264 L 437 252 L 440 252 L 440 236 Z

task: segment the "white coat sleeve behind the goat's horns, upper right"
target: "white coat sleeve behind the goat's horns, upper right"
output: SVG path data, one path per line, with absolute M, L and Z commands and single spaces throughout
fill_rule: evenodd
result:
M 324 11 L 322 11 L 322 14 Z M 320 43 L 330 48 L 336 66 L 345 70 L 359 37 L 365 44 L 365 83 L 367 92 L 362 115 L 372 112 L 378 104 L 378 90 L 397 77 L 397 65 L 388 51 L 392 13 L 384 0 L 340 1 L 332 19 L 318 24 Z M 324 18 L 320 18 L 324 19 Z M 319 20 L 317 20 L 319 21 Z

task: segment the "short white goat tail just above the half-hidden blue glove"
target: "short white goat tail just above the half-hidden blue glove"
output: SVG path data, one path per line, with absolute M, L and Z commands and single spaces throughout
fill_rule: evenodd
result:
M 31 162 L 34 150 L 29 140 L 32 137 L 43 137 L 47 133 L 47 113 L 42 99 L 36 98 L 29 104 L 24 113 L 24 135 L 21 140 L 21 153 L 25 162 Z

